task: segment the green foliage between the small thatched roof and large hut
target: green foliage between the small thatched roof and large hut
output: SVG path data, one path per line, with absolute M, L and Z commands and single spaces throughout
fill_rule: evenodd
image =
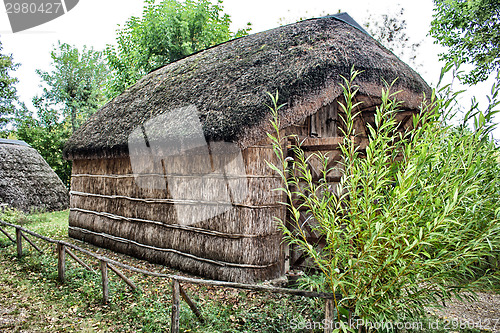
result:
M 71 162 L 62 157 L 65 142 L 104 103 L 108 73 L 100 52 L 60 43 L 51 52 L 52 71 L 37 70 L 43 94 L 33 98 L 36 111 L 19 108 L 15 136 L 35 148 L 69 188 Z

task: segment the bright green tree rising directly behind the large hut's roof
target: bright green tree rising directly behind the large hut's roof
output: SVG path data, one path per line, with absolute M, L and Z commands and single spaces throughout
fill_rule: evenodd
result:
M 149 71 L 199 50 L 246 35 L 250 28 L 232 33 L 231 19 L 222 13 L 222 1 L 146 0 L 142 17 L 131 17 L 118 31 L 117 46 L 105 54 L 113 71 L 107 87 L 114 97 Z

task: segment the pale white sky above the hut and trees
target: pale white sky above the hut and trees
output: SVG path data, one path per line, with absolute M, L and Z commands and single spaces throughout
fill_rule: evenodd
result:
M 0 41 L 3 53 L 12 53 L 14 61 L 21 66 L 14 75 L 20 99 L 31 107 L 33 96 L 41 93 L 36 69 L 50 70 L 50 52 L 58 41 L 82 47 L 86 45 L 102 50 L 107 44 L 114 44 L 118 25 L 123 25 L 130 16 L 141 16 L 143 0 L 80 0 L 65 15 L 26 31 L 12 33 L 5 8 L 0 4 Z M 422 42 L 418 50 L 416 70 L 431 85 L 437 83 L 442 64 L 438 53 L 445 51 L 433 44 L 427 34 L 432 20 L 432 0 L 225 0 L 224 11 L 231 16 L 232 30 L 245 28 L 252 23 L 252 32 L 275 28 L 280 23 L 292 23 L 303 17 L 318 17 L 348 12 L 358 23 L 379 18 L 384 13 L 405 12 L 402 18 L 407 22 L 407 35 L 412 42 Z M 405 60 L 405 59 L 403 59 Z M 485 103 L 485 92 L 490 90 L 492 80 L 468 89 L 462 103 L 469 105 L 471 96 L 478 96 Z M 457 87 L 458 88 L 458 87 Z M 500 121 L 497 117 L 497 122 Z M 500 129 L 494 133 L 500 139 Z

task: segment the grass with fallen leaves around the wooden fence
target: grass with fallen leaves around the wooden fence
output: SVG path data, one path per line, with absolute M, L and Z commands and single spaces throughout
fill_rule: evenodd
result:
M 9 215 L 10 214 L 10 215 Z M 68 211 L 20 216 L 7 212 L 3 220 L 22 224 L 39 234 L 69 239 Z M 19 223 L 19 222 L 18 222 Z M 8 230 L 14 234 L 13 230 Z M 102 304 L 100 275 L 67 259 L 66 282 L 57 282 L 55 245 L 34 240 L 44 250 L 36 252 L 23 242 L 25 255 L 16 257 L 15 246 L 0 235 L 0 332 L 168 332 L 170 330 L 170 281 L 124 271 L 139 287 L 131 292 L 114 273 L 110 274 L 110 302 Z M 78 245 L 142 269 L 178 273 L 125 255 L 78 242 Z M 76 253 L 98 269 L 98 262 Z M 186 275 L 186 274 L 184 274 Z M 247 292 L 184 284 L 201 308 L 201 324 L 181 302 L 181 332 L 322 332 L 310 329 L 311 321 L 324 317 L 323 301 L 295 296 Z M 445 323 L 422 318 L 424 330 L 449 332 Z M 425 329 L 438 323 L 440 329 Z M 294 329 L 297 328 L 297 329 Z M 455 330 L 479 332 L 478 330 Z

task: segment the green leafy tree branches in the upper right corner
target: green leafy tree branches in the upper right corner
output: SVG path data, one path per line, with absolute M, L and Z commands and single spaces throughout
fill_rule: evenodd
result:
M 474 66 L 465 83 L 484 81 L 500 69 L 500 2 L 498 0 L 434 0 L 430 35 L 448 47 L 440 56 Z

